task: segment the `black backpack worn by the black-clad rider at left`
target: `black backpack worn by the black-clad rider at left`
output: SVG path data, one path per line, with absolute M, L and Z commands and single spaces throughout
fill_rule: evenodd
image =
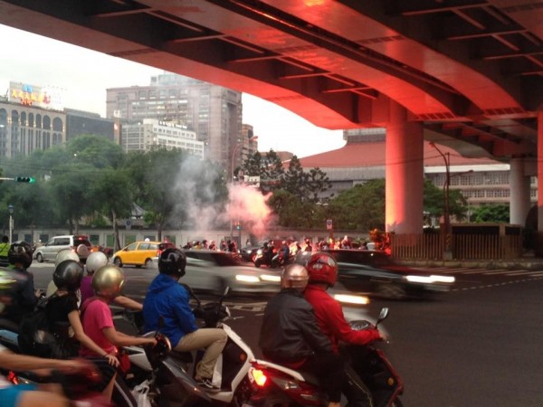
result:
M 40 357 L 51 357 L 56 338 L 50 332 L 47 318 L 47 304 L 51 297 L 38 299 L 33 313 L 26 314 L 19 324 L 18 344 L 21 353 Z

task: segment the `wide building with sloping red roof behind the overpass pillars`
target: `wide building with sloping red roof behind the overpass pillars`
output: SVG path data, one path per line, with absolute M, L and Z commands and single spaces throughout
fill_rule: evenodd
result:
M 353 134 L 354 133 L 354 134 Z M 332 183 L 329 194 L 338 194 L 357 184 L 385 178 L 385 129 L 344 132 L 347 144 L 337 150 L 300 158 L 304 168 L 319 167 Z M 450 188 L 460 189 L 471 206 L 510 203 L 510 165 L 490 158 L 467 158 L 452 148 L 435 143 L 450 160 Z M 424 175 L 443 187 L 446 166 L 443 156 L 424 143 Z M 532 177 L 531 201 L 537 203 L 537 181 Z

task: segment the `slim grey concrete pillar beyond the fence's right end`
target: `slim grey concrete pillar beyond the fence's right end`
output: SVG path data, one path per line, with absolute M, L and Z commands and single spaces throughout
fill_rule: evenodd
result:
M 524 174 L 524 159 L 510 160 L 510 222 L 524 227 L 529 213 L 529 176 Z

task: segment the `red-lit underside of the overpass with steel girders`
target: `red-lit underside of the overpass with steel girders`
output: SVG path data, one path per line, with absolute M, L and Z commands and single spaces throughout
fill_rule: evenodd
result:
M 427 139 L 499 158 L 537 156 L 542 21 L 536 0 L 0 1 L 0 24 L 252 93 L 323 128 L 384 126 L 394 100 Z

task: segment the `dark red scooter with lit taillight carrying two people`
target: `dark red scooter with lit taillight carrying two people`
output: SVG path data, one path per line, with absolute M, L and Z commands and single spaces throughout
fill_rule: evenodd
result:
M 375 328 L 388 316 L 382 308 Z M 352 321 L 353 329 L 367 329 L 373 325 L 367 320 Z M 399 396 L 404 393 L 404 383 L 385 353 L 375 344 L 349 345 L 346 349 L 351 366 L 371 393 L 372 406 L 401 407 Z M 247 401 L 252 407 L 323 406 L 327 396 L 319 387 L 318 379 L 311 374 L 263 360 L 255 360 L 249 371 L 252 396 Z

